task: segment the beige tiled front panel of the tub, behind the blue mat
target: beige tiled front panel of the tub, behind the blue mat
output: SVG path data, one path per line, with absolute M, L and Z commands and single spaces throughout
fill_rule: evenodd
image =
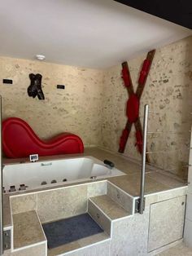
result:
M 28 195 L 11 196 L 11 214 L 36 210 L 41 223 L 84 214 L 90 196 L 107 193 L 107 182 L 95 182 L 72 187 L 50 189 Z

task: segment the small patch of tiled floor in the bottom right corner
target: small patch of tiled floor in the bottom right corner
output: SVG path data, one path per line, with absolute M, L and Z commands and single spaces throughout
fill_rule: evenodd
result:
M 156 256 L 192 256 L 192 248 L 188 248 L 184 243 L 165 250 L 163 253 Z

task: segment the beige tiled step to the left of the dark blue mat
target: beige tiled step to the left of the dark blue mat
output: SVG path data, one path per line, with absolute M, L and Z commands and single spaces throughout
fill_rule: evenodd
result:
M 46 236 L 35 210 L 13 214 L 13 249 L 24 249 L 45 243 Z M 46 248 L 46 247 L 45 247 Z

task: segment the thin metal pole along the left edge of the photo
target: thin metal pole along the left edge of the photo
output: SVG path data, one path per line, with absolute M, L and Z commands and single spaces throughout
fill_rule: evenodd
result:
M 2 201 L 2 96 L 0 95 L 0 255 L 3 254 L 3 201 Z

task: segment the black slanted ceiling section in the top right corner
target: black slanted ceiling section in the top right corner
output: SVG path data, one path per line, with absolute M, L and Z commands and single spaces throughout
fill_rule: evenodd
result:
M 192 29 L 192 0 L 114 0 Z

